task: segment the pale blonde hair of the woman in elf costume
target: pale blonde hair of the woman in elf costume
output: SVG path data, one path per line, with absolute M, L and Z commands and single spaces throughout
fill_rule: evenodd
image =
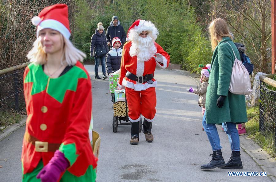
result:
M 63 56 L 61 58 L 61 63 L 64 61 L 67 62 L 69 66 L 75 65 L 77 61 L 83 61 L 86 58 L 86 54 L 75 48 L 75 46 L 68 39 L 64 38 L 60 33 L 60 36 L 63 40 Z M 43 51 L 42 45 L 40 43 L 39 38 L 36 39 L 33 43 L 33 48 L 27 54 L 28 60 L 34 62 L 36 64 L 46 64 L 47 62 L 47 54 Z

